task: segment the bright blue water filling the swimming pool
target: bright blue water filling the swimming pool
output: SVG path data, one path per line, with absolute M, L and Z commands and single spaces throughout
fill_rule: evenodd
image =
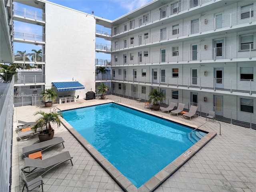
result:
M 63 117 L 137 188 L 194 145 L 192 129 L 113 103 Z

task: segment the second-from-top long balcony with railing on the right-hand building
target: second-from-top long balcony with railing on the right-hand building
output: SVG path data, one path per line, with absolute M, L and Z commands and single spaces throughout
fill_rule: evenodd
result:
M 144 37 L 134 37 L 134 39 L 128 41 L 128 43 L 125 43 L 123 40 L 118 41 L 117 45 L 112 45 L 112 51 L 122 51 L 132 47 L 152 45 L 152 43 L 162 43 L 174 40 L 183 41 L 184 38 L 194 37 L 195 35 L 207 35 L 209 33 L 217 33 L 226 30 L 232 32 L 232 29 L 236 32 L 237 28 L 240 28 L 240 31 L 244 31 L 245 24 L 247 25 L 246 27 L 248 27 L 248 30 L 250 27 L 251 29 L 253 29 L 253 27 L 255 28 L 255 23 L 252 24 L 252 22 L 256 21 L 256 17 L 253 16 L 253 12 L 256 12 L 256 8 L 251 8 L 245 11 L 247 11 L 247 15 L 244 15 L 244 12 L 235 12 L 222 16 L 221 20 L 219 18 L 212 18 L 164 32 L 149 34 Z

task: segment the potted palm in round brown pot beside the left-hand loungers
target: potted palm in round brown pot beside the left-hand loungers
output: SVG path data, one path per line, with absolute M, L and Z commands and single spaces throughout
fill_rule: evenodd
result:
M 41 129 L 40 133 L 38 134 L 39 140 L 47 141 L 53 138 L 54 129 L 52 129 L 52 124 L 57 124 L 58 128 L 60 127 L 60 114 L 58 113 L 46 113 L 43 111 L 38 111 L 34 115 L 40 114 L 41 116 L 36 120 L 36 124 L 32 127 L 36 132 L 38 128 Z M 43 130 L 43 127 L 46 126 L 46 129 Z

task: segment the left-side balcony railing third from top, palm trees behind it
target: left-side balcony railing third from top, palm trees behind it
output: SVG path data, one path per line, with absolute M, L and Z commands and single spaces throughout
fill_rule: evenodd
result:
M 14 61 L 21 62 L 21 63 L 45 62 L 45 54 L 18 52 L 14 54 Z

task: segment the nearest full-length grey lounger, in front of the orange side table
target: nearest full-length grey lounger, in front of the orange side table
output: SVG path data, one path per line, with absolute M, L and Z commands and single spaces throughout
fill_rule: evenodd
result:
M 57 155 L 54 155 L 42 160 L 24 158 L 24 168 L 22 168 L 21 170 L 24 173 L 28 173 L 26 176 L 30 176 L 34 173 L 37 173 L 38 175 L 39 173 L 41 173 L 40 176 L 42 176 L 52 168 L 68 160 L 70 160 L 73 166 L 72 158 L 73 157 L 70 156 L 69 151 L 64 151 L 62 153 L 59 153 Z

